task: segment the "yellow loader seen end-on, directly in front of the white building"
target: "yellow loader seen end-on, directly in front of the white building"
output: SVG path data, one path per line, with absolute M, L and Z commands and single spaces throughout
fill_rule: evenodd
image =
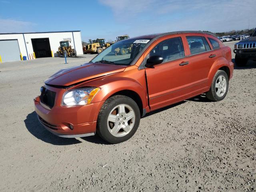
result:
M 70 45 L 71 40 L 60 41 L 60 46 L 58 48 L 58 57 L 76 57 L 76 50 Z

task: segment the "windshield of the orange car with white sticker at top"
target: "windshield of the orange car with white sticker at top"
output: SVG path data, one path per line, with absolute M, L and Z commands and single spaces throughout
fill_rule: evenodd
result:
M 128 66 L 150 40 L 147 38 L 118 41 L 98 54 L 91 62 Z

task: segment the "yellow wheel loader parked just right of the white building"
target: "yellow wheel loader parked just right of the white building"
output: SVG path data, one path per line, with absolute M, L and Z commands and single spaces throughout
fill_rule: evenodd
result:
M 104 49 L 109 47 L 109 43 L 105 43 L 105 39 L 92 40 L 92 44 L 84 46 L 83 52 L 87 53 L 101 53 Z

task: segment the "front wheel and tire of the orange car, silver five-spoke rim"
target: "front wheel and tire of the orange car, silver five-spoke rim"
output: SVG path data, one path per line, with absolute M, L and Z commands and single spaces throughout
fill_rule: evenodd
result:
M 102 105 L 97 121 L 97 133 L 111 144 L 130 139 L 140 124 L 140 109 L 136 102 L 123 95 L 108 98 Z

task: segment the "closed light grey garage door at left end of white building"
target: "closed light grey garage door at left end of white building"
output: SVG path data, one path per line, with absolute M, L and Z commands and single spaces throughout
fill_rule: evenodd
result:
M 2 62 L 20 60 L 18 40 L 0 40 L 0 55 Z

